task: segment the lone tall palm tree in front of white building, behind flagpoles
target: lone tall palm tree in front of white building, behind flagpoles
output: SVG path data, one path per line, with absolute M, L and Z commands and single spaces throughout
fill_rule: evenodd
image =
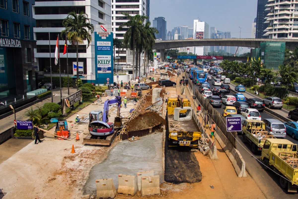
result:
M 78 46 L 84 43 L 84 39 L 87 40 L 88 46 L 91 44 L 92 36 L 94 32 L 94 26 L 90 23 L 88 15 L 81 11 L 77 14 L 75 11 L 68 13 L 67 17 L 62 21 L 64 30 L 61 35 L 67 36 L 67 40 L 72 45 L 75 45 L 77 50 L 77 82 L 79 81 L 79 57 L 78 57 Z M 77 88 L 78 90 L 79 88 Z

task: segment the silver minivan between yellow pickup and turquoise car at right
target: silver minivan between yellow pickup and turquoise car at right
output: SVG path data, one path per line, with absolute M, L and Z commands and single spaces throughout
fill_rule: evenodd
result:
M 285 138 L 286 128 L 282 121 L 278 119 L 263 119 L 266 124 L 266 130 L 276 138 Z

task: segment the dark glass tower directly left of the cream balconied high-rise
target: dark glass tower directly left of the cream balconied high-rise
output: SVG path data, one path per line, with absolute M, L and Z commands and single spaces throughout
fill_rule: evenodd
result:
M 277 0 L 279 1 L 279 0 Z M 284 0 L 283 0 L 284 1 Z M 269 10 L 265 7 L 268 0 L 258 0 L 257 5 L 257 27 L 256 27 L 256 37 L 255 38 L 268 38 L 268 36 L 264 36 L 264 30 L 268 27 L 268 23 L 265 23 L 265 17 L 269 13 Z M 268 4 L 272 4 L 270 1 Z

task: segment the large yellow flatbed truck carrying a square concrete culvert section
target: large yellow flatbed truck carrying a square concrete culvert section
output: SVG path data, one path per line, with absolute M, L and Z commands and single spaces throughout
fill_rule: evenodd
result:
M 179 111 L 180 107 L 184 109 Z M 201 132 L 197 130 L 192 120 L 192 111 L 189 100 L 183 99 L 181 96 L 178 96 L 177 99 L 168 99 L 166 121 L 167 145 L 169 147 L 190 146 L 198 148 Z

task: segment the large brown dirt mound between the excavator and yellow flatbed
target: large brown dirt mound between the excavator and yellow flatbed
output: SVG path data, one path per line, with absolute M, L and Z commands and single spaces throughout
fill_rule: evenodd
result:
M 127 124 L 127 131 L 148 129 L 159 124 L 166 125 L 164 118 L 160 117 L 157 112 L 146 112 L 130 121 Z

